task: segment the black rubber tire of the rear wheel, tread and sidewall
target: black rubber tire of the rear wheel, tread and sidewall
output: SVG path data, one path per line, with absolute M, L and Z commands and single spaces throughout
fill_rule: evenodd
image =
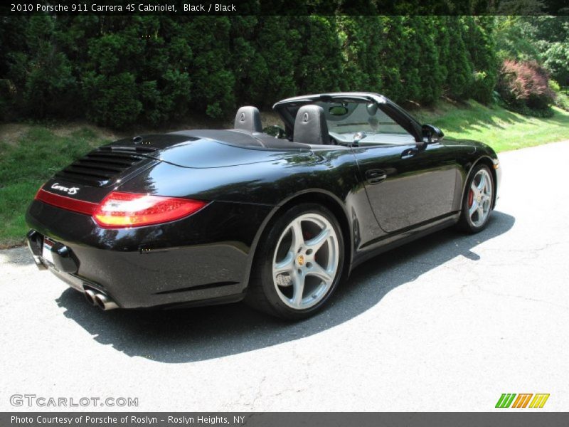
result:
M 282 294 L 280 296 L 279 291 L 277 291 L 278 286 L 275 284 L 275 279 L 273 278 L 273 261 L 277 257 L 275 251 L 277 251 L 277 245 L 279 245 L 281 242 L 283 233 L 289 229 L 289 226 L 291 226 L 293 221 L 296 221 L 297 218 L 300 217 L 304 218 L 304 216 L 308 214 L 316 214 L 317 216 L 326 218 L 326 220 L 329 221 L 329 224 L 334 229 L 338 246 L 338 263 L 333 280 L 328 281 L 328 283 L 331 282 L 331 285 L 329 285 L 329 288 L 325 292 L 323 291 L 324 293 L 321 295 L 321 297 L 319 297 L 319 301 L 312 305 L 312 307 L 293 308 L 289 307 L 289 305 L 283 301 Z M 309 224 L 309 226 L 310 225 L 311 224 Z M 251 278 L 247 294 L 245 295 L 245 303 L 250 305 L 250 307 L 255 308 L 255 310 L 260 310 L 269 315 L 280 317 L 286 320 L 301 320 L 310 317 L 321 310 L 324 305 L 326 305 L 326 302 L 334 293 L 334 290 L 336 290 L 336 287 L 342 278 L 342 273 L 344 270 L 344 237 L 342 236 L 341 227 L 338 223 L 338 220 L 334 214 L 332 214 L 331 211 L 329 211 L 329 209 L 326 209 L 324 206 L 321 206 L 319 204 L 304 203 L 297 206 L 292 206 L 281 216 L 279 216 L 276 221 L 274 221 L 269 227 L 270 228 L 268 228 L 264 236 L 262 236 L 262 241 L 257 247 L 255 265 L 252 267 Z M 287 231 L 287 233 L 292 233 L 292 231 Z M 309 241 L 309 239 L 307 241 Z M 326 245 L 329 244 L 332 243 L 326 243 Z M 281 245 L 287 246 L 286 243 L 282 243 Z M 322 247 L 324 247 L 324 245 Z M 328 253 L 327 248 L 328 246 L 326 246 L 326 253 Z M 315 263 L 317 253 L 319 253 L 319 251 L 320 250 L 317 250 L 316 253 L 314 253 Z M 289 252 L 292 253 L 292 245 L 291 251 Z M 292 261 L 292 265 L 297 265 L 296 263 L 297 258 L 296 255 L 294 255 L 294 261 Z M 306 263 L 306 268 L 308 268 L 309 264 L 309 262 Z M 303 276 L 302 283 L 304 283 L 304 278 L 306 277 L 308 276 Z M 278 276 L 277 279 L 279 279 Z M 289 283 L 293 283 L 290 280 L 292 279 L 289 279 Z M 324 286 L 324 280 L 319 286 Z M 292 288 L 294 288 L 294 286 L 292 286 Z M 281 290 L 282 288 L 278 289 Z M 299 293 L 301 294 L 302 299 L 303 294 L 302 292 Z

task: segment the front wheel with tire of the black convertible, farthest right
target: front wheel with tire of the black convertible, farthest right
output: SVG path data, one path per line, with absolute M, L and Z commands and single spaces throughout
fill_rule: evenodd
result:
M 470 233 L 482 231 L 490 218 L 493 201 L 494 179 L 490 169 L 480 164 L 474 168 L 467 183 L 459 222 L 461 228 Z

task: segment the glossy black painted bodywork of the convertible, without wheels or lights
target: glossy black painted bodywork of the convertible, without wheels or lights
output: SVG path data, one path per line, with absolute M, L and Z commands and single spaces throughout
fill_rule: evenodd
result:
M 76 194 L 64 195 L 95 203 L 118 190 L 209 204 L 179 221 L 109 229 L 90 216 L 33 201 L 26 221 L 77 261 L 76 272 L 54 270 L 58 277 L 78 290 L 103 290 L 121 307 L 241 299 L 257 243 L 272 219 L 300 200 L 319 201 L 338 216 L 349 271 L 381 251 L 456 222 L 469 171 L 477 162 L 491 167 L 496 160 L 494 151 L 478 142 L 427 143 L 421 126 L 400 107 L 380 95 L 357 96 L 387 105 L 392 117 L 412 130 L 415 143 L 311 146 L 231 131 L 122 139 L 105 149 L 136 153 L 143 159 L 135 166 L 100 185 L 55 176 L 43 189 L 61 194 L 57 186 L 75 186 Z M 285 103 L 275 109 L 282 112 Z M 290 117 L 283 120 L 289 129 Z

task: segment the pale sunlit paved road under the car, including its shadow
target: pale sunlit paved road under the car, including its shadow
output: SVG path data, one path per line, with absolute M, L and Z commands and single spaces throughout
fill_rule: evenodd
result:
M 36 394 L 137 397 L 141 411 L 489 411 L 509 392 L 568 411 L 567 159 L 569 142 L 502 154 L 486 231 L 381 255 L 294 325 L 242 305 L 102 312 L 25 249 L 0 251 L 0 410 Z

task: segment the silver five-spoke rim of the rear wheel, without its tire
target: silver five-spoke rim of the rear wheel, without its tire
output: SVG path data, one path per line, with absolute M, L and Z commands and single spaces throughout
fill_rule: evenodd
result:
M 280 300 L 303 310 L 329 291 L 339 265 L 339 241 L 328 219 L 319 214 L 294 218 L 282 232 L 272 259 L 272 279 Z

